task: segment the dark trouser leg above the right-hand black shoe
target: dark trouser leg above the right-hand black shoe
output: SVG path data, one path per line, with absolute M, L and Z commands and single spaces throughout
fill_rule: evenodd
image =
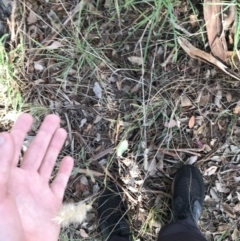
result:
M 177 220 L 164 226 L 158 236 L 158 241 L 206 241 L 197 224 L 192 218 Z

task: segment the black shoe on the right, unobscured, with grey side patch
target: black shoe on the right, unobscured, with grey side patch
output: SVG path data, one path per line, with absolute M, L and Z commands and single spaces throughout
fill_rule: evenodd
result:
M 173 220 L 192 217 L 197 223 L 204 201 L 203 177 L 195 166 L 182 166 L 173 181 Z

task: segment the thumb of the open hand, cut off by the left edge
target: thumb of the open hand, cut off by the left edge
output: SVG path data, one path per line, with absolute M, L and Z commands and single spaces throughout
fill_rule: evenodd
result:
M 14 142 L 12 136 L 0 133 L 0 196 L 7 192 L 7 183 L 14 158 Z

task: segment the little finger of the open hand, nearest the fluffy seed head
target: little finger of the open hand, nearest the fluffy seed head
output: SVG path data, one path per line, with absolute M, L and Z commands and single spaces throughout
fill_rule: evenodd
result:
M 69 156 L 64 157 L 60 164 L 57 176 L 51 185 L 51 190 L 53 194 L 59 200 L 63 199 L 64 191 L 66 189 L 72 168 L 73 159 Z

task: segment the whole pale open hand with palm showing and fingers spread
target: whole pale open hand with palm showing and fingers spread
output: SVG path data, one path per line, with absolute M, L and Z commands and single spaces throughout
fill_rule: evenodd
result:
M 62 206 L 73 159 L 63 158 L 51 185 L 49 179 L 67 133 L 60 119 L 48 115 L 17 167 L 32 117 L 22 114 L 10 133 L 0 134 L 0 241 L 57 241 L 53 218 Z

